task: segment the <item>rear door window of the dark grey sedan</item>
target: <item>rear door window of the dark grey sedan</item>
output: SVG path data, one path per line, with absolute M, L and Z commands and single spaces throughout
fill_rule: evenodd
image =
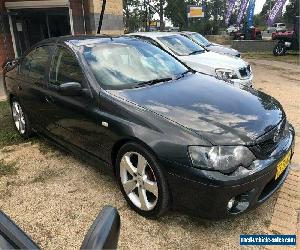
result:
M 51 46 L 42 46 L 31 51 L 22 61 L 21 73 L 37 80 L 43 80 L 49 65 L 51 48 Z

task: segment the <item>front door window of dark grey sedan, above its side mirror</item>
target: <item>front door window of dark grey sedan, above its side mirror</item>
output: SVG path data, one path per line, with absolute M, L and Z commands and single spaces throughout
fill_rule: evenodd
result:
M 83 84 L 83 73 L 74 54 L 65 48 L 59 48 L 51 67 L 50 83 L 61 85 L 68 82 Z

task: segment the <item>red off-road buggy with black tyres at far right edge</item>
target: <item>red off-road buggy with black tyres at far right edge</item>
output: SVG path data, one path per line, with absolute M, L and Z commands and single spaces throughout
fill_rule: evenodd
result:
M 272 33 L 272 40 L 278 41 L 273 49 L 274 56 L 283 56 L 287 50 L 299 51 L 299 20 L 300 17 L 297 16 L 293 31 Z

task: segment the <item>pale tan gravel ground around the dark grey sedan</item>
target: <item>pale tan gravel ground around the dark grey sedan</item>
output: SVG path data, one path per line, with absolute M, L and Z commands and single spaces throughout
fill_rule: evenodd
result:
M 298 69 L 251 60 L 255 86 L 279 99 L 299 130 Z M 298 152 L 297 142 L 296 164 L 300 163 Z M 121 249 L 237 249 L 240 234 L 266 232 L 277 198 L 274 195 L 259 208 L 222 221 L 174 212 L 153 221 L 128 208 L 112 176 L 42 140 L 5 147 L 0 152 L 0 167 L 0 208 L 43 249 L 78 249 L 106 204 L 119 209 Z

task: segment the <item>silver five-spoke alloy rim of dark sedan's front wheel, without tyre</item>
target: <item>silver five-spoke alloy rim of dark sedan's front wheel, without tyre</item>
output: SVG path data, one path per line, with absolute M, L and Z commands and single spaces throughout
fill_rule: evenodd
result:
M 120 177 L 126 195 L 136 207 L 143 211 L 155 208 L 157 179 L 144 156 L 137 152 L 124 154 L 120 162 Z

